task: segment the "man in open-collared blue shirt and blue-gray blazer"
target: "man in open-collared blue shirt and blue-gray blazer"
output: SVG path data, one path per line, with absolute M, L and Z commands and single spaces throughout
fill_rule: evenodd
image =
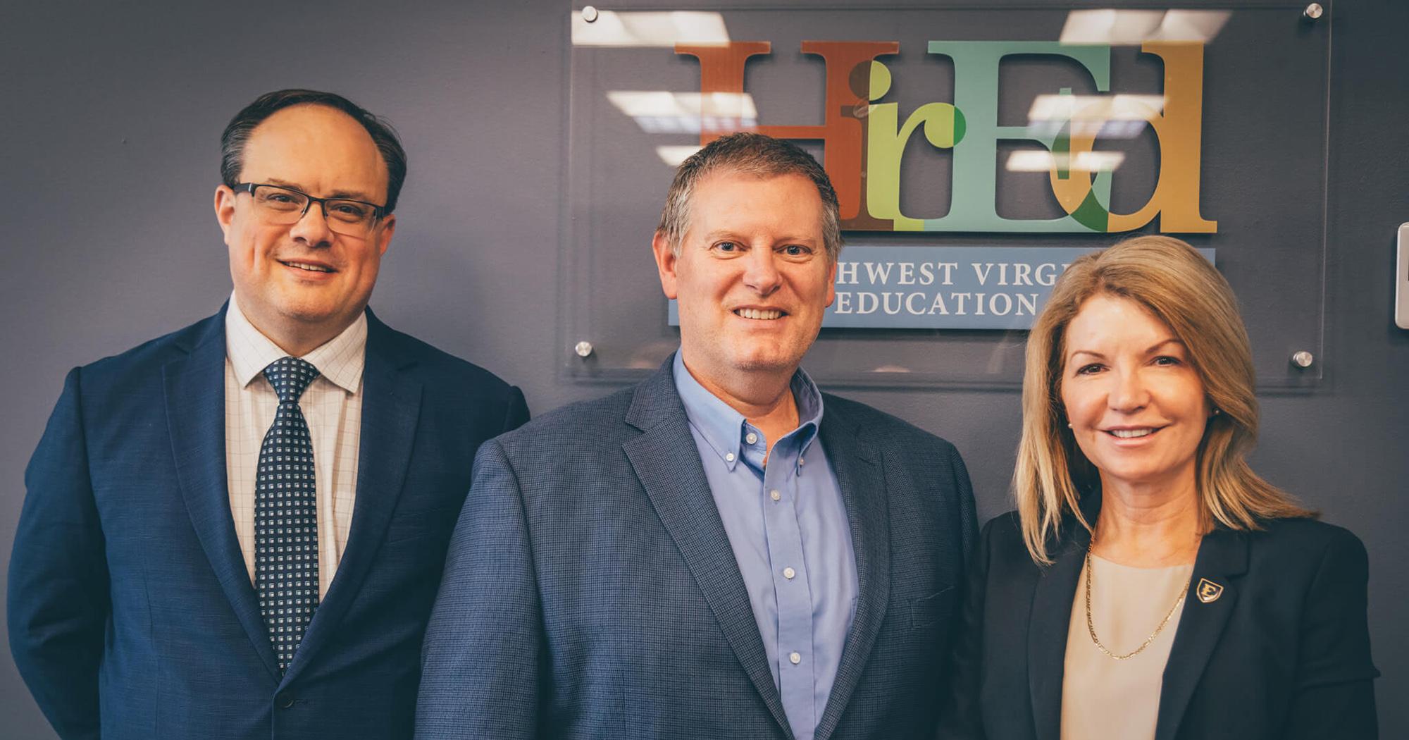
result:
M 951 444 L 799 369 L 841 248 L 826 172 L 717 140 L 652 247 L 681 350 L 480 448 L 417 737 L 933 734 L 974 500 Z

